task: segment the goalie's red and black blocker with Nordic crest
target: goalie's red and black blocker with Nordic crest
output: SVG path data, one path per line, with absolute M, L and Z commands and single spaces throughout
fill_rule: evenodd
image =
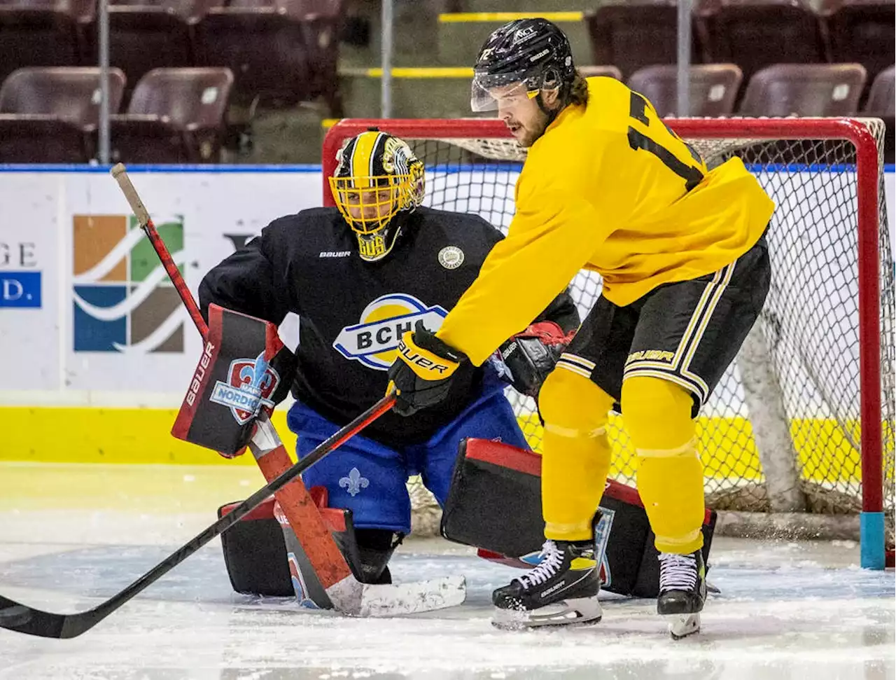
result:
M 210 305 L 202 357 L 171 434 L 237 455 L 249 443 L 261 409 L 270 415 L 286 398 L 295 368 L 295 356 L 273 323 Z

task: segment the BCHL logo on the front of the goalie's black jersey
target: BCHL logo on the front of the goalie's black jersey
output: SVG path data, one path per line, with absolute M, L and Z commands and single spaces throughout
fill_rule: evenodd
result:
M 333 341 L 343 357 L 360 361 L 379 371 L 389 370 L 405 331 L 422 321 L 428 331 L 437 331 L 448 312 L 441 306 L 426 306 L 416 297 L 390 293 L 377 297 L 361 313 L 361 323 L 346 326 Z

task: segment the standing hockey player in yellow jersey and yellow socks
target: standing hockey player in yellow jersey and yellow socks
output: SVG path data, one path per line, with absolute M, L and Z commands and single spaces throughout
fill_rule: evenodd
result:
M 404 414 L 440 399 L 582 268 L 602 293 L 538 394 L 544 559 L 495 590 L 495 624 L 599 621 L 593 523 L 607 414 L 621 409 L 659 551 L 658 613 L 699 630 L 703 477 L 694 417 L 768 293 L 774 205 L 740 159 L 709 169 L 641 94 L 583 79 L 543 19 L 495 30 L 474 69 L 474 110 L 496 109 L 529 150 L 508 236 L 437 333 L 404 336 L 392 383 Z

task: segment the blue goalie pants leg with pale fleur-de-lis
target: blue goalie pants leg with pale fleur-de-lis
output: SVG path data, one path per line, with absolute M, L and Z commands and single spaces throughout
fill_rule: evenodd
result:
M 339 426 L 296 402 L 287 416 L 289 429 L 298 436 L 297 456 L 304 458 L 314 447 L 339 430 Z M 323 486 L 332 507 L 352 512 L 358 529 L 388 529 L 410 533 L 410 498 L 405 480 L 406 461 L 399 452 L 353 436 L 302 474 L 305 485 Z

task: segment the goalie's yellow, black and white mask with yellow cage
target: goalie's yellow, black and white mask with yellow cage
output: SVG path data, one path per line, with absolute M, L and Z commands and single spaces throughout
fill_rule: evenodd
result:
M 400 213 L 423 201 L 423 163 L 407 142 L 378 130 L 351 138 L 336 159 L 330 177 L 336 206 L 358 237 L 361 259 L 380 260 L 401 233 Z

